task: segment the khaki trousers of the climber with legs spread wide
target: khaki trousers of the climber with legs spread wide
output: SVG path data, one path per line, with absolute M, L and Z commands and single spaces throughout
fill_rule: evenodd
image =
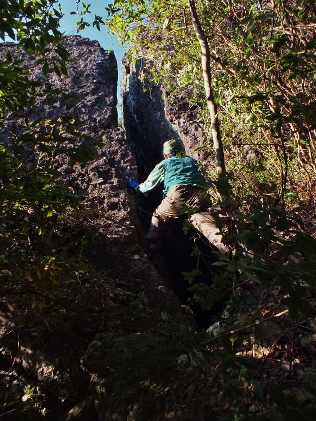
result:
M 219 230 L 214 223 L 214 219 L 207 211 L 210 202 L 206 199 L 204 189 L 197 189 L 192 186 L 172 186 L 167 196 L 162 200 L 158 208 L 154 211 L 146 236 L 149 241 L 150 250 L 158 250 L 162 246 L 167 221 L 171 218 L 179 218 L 184 206 L 190 206 L 194 213 L 189 221 L 197 228 L 214 246 L 222 253 L 227 253 L 228 247 L 222 242 Z M 197 213 L 200 212 L 200 213 Z

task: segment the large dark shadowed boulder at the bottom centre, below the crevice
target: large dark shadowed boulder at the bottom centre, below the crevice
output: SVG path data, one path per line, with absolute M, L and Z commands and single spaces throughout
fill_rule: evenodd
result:
M 165 407 L 165 389 L 178 354 L 168 338 L 155 332 L 97 336 L 82 358 L 82 367 L 92 374 L 100 420 L 155 419 Z

